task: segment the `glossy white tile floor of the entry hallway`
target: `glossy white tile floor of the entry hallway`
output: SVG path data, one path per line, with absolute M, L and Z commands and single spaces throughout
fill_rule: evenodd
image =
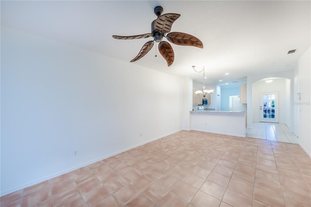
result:
M 298 137 L 281 123 L 253 122 L 252 129 L 246 129 L 246 136 L 264 140 L 298 143 Z

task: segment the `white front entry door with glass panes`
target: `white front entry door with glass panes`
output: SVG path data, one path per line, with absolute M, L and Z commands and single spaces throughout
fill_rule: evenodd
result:
M 260 93 L 260 121 L 279 122 L 279 92 Z

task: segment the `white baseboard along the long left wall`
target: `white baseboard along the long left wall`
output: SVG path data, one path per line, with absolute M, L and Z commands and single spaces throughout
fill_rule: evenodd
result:
M 73 171 L 73 170 L 76 170 L 76 169 L 85 167 L 86 165 L 89 165 L 89 164 L 98 162 L 98 161 L 100 161 L 100 160 L 109 158 L 109 157 L 114 156 L 114 155 L 116 155 L 116 154 L 120 154 L 120 153 L 122 153 L 122 152 L 124 152 L 124 151 L 131 150 L 131 149 L 133 149 L 133 148 L 135 148 L 135 147 L 138 147 L 138 146 L 147 144 L 147 143 L 149 143 L 149 142 L 152 142 L 152 141 L 154 141 L 154 140 L 158 140 L 158 139 L 160 139 L 160 138 L 162 138 L 162 137 L 169 136 L 169 135 L 171 135 L 171 134 L 174 134 L 174 133 L 179 132 L 179 131 L 182 131 L 182 130 L 184 130 L 184 129 L 180 129 L 180 130 L 177 130 L 177 131 L 170 132 L 170 133 L 165 134 L 165 135 L 163 135 L 163 136 L 159 136 L 159 137 L 156 137 L 156 138 L 154 138 L 154 139 L 151 139 L 151 140 L 142 142 L 142 143 L 140 143 L 140 144 L 137 144 L 137 145 L 134 145 L 134 146 L 125 148 L 125 149 L 123 149 L 123 150 L 119 150 L 119 151 L 114 152 L 114 153 L 112 153 L 112 154 L 105 155 L 105 156 L 103 156 L 103 157 L 101 157 L 101 158 L 92 160 L 92 161 L 90 161 L 90 162 L 83 163 L 83 164 L 77 165 L 77 166 L 72 167 L 72 168 L 68 168 L 68 169 L 63 170 L 63 171 L 61 171 L 61 172 L 54 173 L 54 174 L 52 174 L 52 175 L 49 175 L 49 176 L 46 176 L 46 177 L 43 177 L 43 178 L 40 178 L 40 179 L 31 181 L 31 182 L 27 182 L 26 184 L 23 184 L 23 185 L 18 186 L 18 187 L 16 187 L 16 188 L 13 188 L 13 189 L 10 189 L 10 190 L 6 190 L 6 191 L 1 191 L 0 196 L 7 195 L 7 194 L 9 194 L 9 193 L 12 193 L 12 192 L 15 192 L 15 191 L 19 191 L 19 190 L 24 189 L 24 188 L 26 188 L 26 187 L 29 187 L 29 186 L 35 185 L 35 184 L 37 184 L 37 183 L 40 183 L 40 182 L 43 182 L 43 181 L 52 179 L 52 178 L 54 178 L 54 177 L 63 175 L 63 174 L 65 174 L 65 173 L 69 173 L 69 172 L 71 172 L 71 171 Z

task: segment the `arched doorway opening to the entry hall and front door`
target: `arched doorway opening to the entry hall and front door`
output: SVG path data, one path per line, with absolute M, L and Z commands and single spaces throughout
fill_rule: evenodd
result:
M 288 78 L 264 78 L 252 83 L 252 128 L 247 136 L 297 143 L 290 132 L 291 80 Z

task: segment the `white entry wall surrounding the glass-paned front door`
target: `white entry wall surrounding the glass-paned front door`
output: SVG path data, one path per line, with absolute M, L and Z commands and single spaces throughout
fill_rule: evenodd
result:
M 253 122 L 260 120 L 260 93 L 279 92 L 279 122 L 289 124 L 287 114 L 290 113 L 290 80 L 285 78 L 273 79 L 271 83 L 266 81 L 257 81 L 253 83 Z

